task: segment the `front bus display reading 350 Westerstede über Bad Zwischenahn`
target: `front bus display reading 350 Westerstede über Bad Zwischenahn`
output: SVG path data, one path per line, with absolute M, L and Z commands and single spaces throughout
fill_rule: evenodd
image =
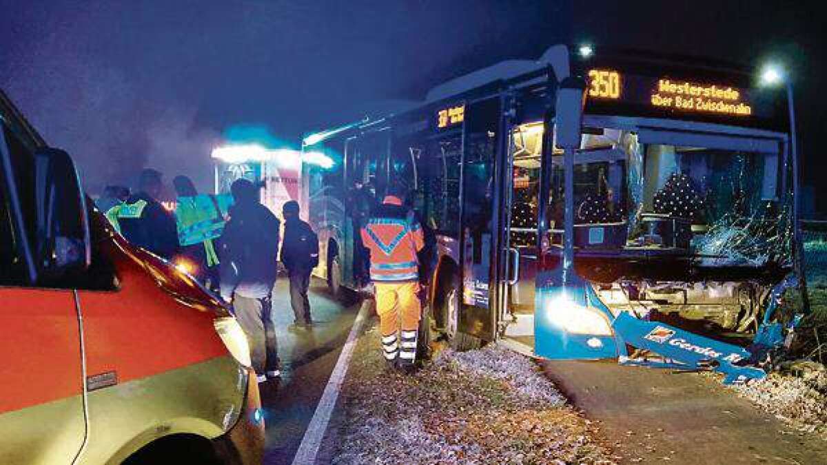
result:
M 589 70 L 588 98 L 646 105 L 686 113 L 748 117 L 753 104 L 747 91 L 686 79 L 624 75 L 617 70 Z

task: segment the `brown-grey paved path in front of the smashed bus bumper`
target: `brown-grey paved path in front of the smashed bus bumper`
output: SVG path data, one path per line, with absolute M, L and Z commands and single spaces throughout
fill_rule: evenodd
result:
M 621 463 L 827 463 L 827 443 L 799 434 L 719 381 L 616 362 L 545 361 Z

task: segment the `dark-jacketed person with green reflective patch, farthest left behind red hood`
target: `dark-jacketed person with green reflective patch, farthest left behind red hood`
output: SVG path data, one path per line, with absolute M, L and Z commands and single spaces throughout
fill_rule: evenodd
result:
M 175 218 L 160 204 L 163 183 L 157 170 L 141 171 L 138 192 L 117 213 L 123 237 L 138 247 L 170 260 L 178 252 Z

